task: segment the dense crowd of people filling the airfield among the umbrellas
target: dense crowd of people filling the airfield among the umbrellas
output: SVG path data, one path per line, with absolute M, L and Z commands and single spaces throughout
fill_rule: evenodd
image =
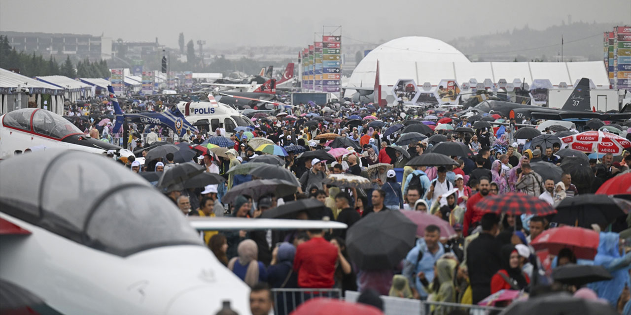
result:
M 98 106 L 100 110 L 109 110 L 107 101 Z M 72 111 L 79 115 L 82 109 L 73 107 Z M 555 180 L 550 174 L 536 170 L 548 169 L 536 167 L 541 163 L 556 167 L 569 158 L 558 155 L 566 146 L 562 142 L 531 146 L 532 139 L 510 139 L 510 131 L 505 127 L 468 130 L 473 121 L 467 116 L 457 117 L 454 112 L 435 108 L 405 110 L 402 106 L 378 108 L 346 101 L 326 106 L 301 104 L 276 110 L 274 114 L 252 117 L 251 127 L 234 134 L 226 134 L 221 128 L 201 132 L 187 130 L 177 139 L 195 152 L 191 161 L 226 180 L 219 185 L 166 191 L 183 215 L 256 220 L 267 210 L 284 203 L 315 198 L 326 210 L 317 215 L 297 211 L 293 219 L 339 221 L 350 228 L 382 211 L 419 211 L 440 217 L 453 227 L 457 236 L 441 238 L 440 227 L 429 225 L 397 268 L 375 272 L 359 270 L 357 262 L 351 259 L 346 244 L 348 229 L 204 232 L 201 237 L 216 258 L 246 284 L 256 288 L 252 294 L 264 290 L 261 284 L 265 283 L 276 289 L 337 288 L 341 292 L 358 290 L 425 301 L 478 304 L 502 289 L 521 290 L 531 296 L 569 290 L 577 296 L 597 297 L 598 301 L 628 314 L 631 254 L 627 253 L 628 243 L 624 243 L 628 236 L 621 236 L 620 232 L 628 229 L 631 216 L 591 227 L 601 232 L 601 242 L 613 242 L 613 249 L 608 252 L 599 249 L 596 261 L 599 255 L 607 257 L 608 260 L 601 260 L 606 261 L 601 265 L 616 277 L 605 284 L 597 282 L 581 288 L 550 281 L 549 273 L 546 277 L 531 246 L 538 235 L 557 226 L 553 215 L 496 215 L 479 209 L 476 204 L 493 195 L 521 192 L 554 206 L 565 198 L 595 193 L 605 181 L 629 172 L 631 150 L 616 155 L 587 157 L 584 154 L 582 158 L 589 163 L 587 169 L 591 173 L 579 183 L 572 171 L 563 171 Z M 509 122 L 508 117 L 493 120 Z M 410 140 L 410 133 L 404 132 L 406 126 L 419 123 L 432 127 L 431 133 Z M 534 126 L 539 122 L 522 123 Z M 396 127 L 398 124 L 400 128 Z M 437 125 L 449 127 L 439 129 Z M 107 123 L 101 127 L 107 127 Z M 151 161 L 146 158 L 159 138 L 168 136 L 168 132 L 150 127 L 138 125 L 136 130 L 146 132 L 131 133 L 130 149 L 136 156 L 117 156 L 114 151 L 108 155 L 136 173 L 168 171 L 178 164 L 173 153 Z M 458 131 L 459 127 L 467 130 Z M 86 128 L 90 132 L 97 126 L 92 123 Z M 578 129 L 589 130 L 590 127 Z M 569 131 L 579 132 L 575 128 Z M 542 134 L 556 132 L 545 129 Z M 215 153 L 207 144 L 213 137 L 222 136 L 230 139 L 231 144 L 225 151 Z M 253 197 L 244 192 L 231 202 L 225 202 L 228 192 L 257 179 L 249 174 L 230 173 L 230 169 L 268 155 L 250 145 L 259 138 L 285 149 L 278 154 L 281 157 L 278 164 L 295 175 L 298 183 L 295 193 Z M 455 162 L 453 166 L 407 165 L 414 157 L 432 151 L 443 142 L 459 142 L 472 154 L 449 155 Z M 205 149 L 196 150 L 196 147 Z M 312 151 L 327 152 L 333 159 L 305 154 Z M 325 183 L 328 176 L 343 174 L 361 176 L 371 187 L 350 188 Z M 552 268 L 577 262 L 569 249 L 551 259 Z M 615 263 L 611 263 L 612 260 Z M 548 280 L 542 280 L 545 278 Z M 578 294 L 587 290 L 594 294 Z M 288 314 L 291 310 L 280 309 L 280 313 Z M 457 314 L 458 310 L 436 305 L 431 311 Z

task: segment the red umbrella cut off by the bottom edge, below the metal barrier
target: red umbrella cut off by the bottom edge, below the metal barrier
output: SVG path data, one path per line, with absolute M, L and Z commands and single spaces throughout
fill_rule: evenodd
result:
M 316 297 L 300 304 L 292 315 L 329 315 L 329 314 L 348 314 L 348 315 L 383 315 L 377 307 L 366 304 L 345 302 L 338 299 L 327 299 L 325 297 Z

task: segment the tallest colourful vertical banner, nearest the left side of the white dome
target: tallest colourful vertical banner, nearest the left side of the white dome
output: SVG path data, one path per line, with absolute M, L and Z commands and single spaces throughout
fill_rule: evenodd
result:
M 341 91 L 342 37 L 322 36 L 322 91 Z

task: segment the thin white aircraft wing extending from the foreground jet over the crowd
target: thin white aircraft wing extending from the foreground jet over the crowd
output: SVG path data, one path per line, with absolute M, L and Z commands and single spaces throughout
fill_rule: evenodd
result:
M 337 221 L 246 219 L 239 217 L 188 217 L 191 226 L 198 231 L 225 230 L 295 230 L 295 229 L 346 229 Z

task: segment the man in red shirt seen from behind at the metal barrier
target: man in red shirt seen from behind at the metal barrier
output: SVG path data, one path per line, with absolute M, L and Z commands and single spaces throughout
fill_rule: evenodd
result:
M 338 248 L 322 238 L 322 230 L 308 230 L 309 241 L 298 245 L 293 270 L 298 273 L 298 287 L 331 289 L 335 284 Z

